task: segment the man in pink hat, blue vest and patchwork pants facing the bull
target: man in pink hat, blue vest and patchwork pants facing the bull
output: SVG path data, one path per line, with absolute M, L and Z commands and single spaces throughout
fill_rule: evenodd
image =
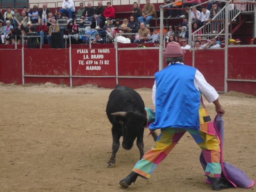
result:
M 119 182 L 124 188 L 135 182 L 138 176 L 149 179 L 187 131 L 203 152 L 207 163 L 205 175 L 213 178 L 212 189 L 232 187 L 228 181 L 221 179 L 220 140 L 215 136 L 201 93 L 213 102 L 217 113 L 224 115 L 225 110 L 219 103 L 219 94 L 205 81 L 202 73 L 183 64 L 184 53 L 179 43 L 167 44 L 164 57 L 168 66 L 155 74 L 152 100 L 156 106 L 156 117 L 155 122 L 149 125 L 149 129 L 161 129 L 161 133 L 132 172 Z

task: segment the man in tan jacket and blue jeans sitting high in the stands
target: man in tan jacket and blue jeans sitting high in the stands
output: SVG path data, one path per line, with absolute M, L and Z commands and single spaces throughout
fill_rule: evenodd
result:
M 150 0 L 146 0 L 146 4 L 143 6 L 142 16 L 138 17 L 140 23 L 144 23 L 146 27 L 149 27 L 149 21 L 156 18 L 155 6 L 150 3 Z M 146 22 L 145 22 L 145 21 Z

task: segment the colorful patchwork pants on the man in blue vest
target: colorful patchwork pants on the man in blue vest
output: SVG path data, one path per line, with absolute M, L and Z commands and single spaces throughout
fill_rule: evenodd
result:
M 204 159 L 207 163 L 205 175 L 209 177 L 220 177 L 220 140 L 217 136 L 207 133 L 180 128 L 161 129 L 155 145 L 144 154 L 142 159 L 134 166 L 134 172 L 149 179 L 157 165 L 171 152 L 184 133 L 188 131 L 199 147 L 202 149 Z

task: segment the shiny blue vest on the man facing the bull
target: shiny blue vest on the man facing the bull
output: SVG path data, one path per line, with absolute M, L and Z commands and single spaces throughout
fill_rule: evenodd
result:
M 156 80 L 156 120 L 149 129 L 200 129 L 200 92 L 194 86 L 196 68 L 174 63 L 158 71 Z

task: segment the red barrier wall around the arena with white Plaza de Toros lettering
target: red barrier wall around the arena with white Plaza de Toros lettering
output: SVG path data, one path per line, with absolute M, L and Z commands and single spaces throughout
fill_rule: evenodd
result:
M 111 44 L 112 45 L 112 44 Z M 80 45 L 78 45 L 79 47 Z M 127 45 L 123 45 L 127 46 Z M 97 46 L 95 46 L 97 47 Z M 80 47 L 79 47 L 80 48 Z M 86 52 L 83 51 L 87 50 Z M 100 53 L 99 53 L 100 50 Z M 102 51 L 105 52 L 102 53 Z M 116 85 L 116 50 L 114 48 L 72 48 L 73 86 L 96 84 L 114 88 Z M 95 52 L 95 53 L 91 53 Z M 228 78 L 255 80 L 256 66 L 253 59 L 256 47 L 228 48 Z M 239 54 L 238 54 L 239 53 Z M 87 57 L 87 56 L 88 57 Z M 92 58 L 98 55 L 99 58 Z M 102 56 L 100 56 L 102 55 Z M 193 52 L 186 50 L 184 63 L 192 66 Z M 82 62 L 83 60 L 83 62 Z M 118 50 L 118 76 L 154 76 L 158 71 L 159 50 Z M 86 63 L 87 62 L 87 63 Z M 100 63 L 101 62 L 101 63 Z M 80 64 L 79 64 L 80 63 Z M 166 64 L 164 64 L 164 67 Z M 90 68 L 91 67 L 91 68 Z M 100 67 L 100 68 L 99 68 Z M 195 67 L 201 71 L 217 91 L 224 91 L 224 50 L 196 50 Z M 69 76 L 69 49 L 24 49 L 25 75 Z M 21 50 L 0 50 L 0 81 L 22 84 Z M 79 77 L 103 76 L 103 77 Z M 113 77 L 104 77 L 113 76 Z M 69 77 L 25 77 L 25 83 L 70 85 Z M 154 78 L 118 78 L 118 83 L 132 88 L 151 88 Z M 228 81 L 228 91 L 256 95 L 256 82 Z

